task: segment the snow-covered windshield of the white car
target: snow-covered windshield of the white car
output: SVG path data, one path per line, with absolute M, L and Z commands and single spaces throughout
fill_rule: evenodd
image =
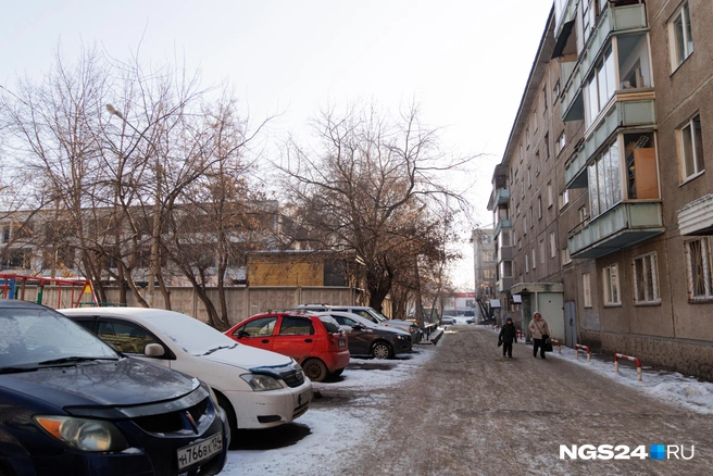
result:
M 217 348 L 236 346 L 235 340 L 220 330 L 184 314 L 174 312 L 154 314 L 148 321 L 166 338 L 193 355 L 202 355 Z

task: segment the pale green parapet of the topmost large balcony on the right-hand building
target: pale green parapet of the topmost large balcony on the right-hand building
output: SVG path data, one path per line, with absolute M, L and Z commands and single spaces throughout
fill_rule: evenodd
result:
M 577 65 L 568 76 L 570 80 L 562 95 L 563 121 L 584 120 L 583 86 L 590 76 L 591 68 L 599 60 L 602 50 L 609 43 L 611 36 L 646 28 L 646 4 L 643 3 L 604 10 L 596 30 L 592 32 L 587 42 L 587 47 L 579 54 Z

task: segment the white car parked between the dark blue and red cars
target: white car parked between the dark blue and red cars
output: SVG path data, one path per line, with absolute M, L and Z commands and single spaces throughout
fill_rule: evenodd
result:
M 205 381 L 234 430 L 290 423 L 312 401 L 312 383 L 293 359 L 239 346 L 185 314 L 146 308 L 60 312 L 130 356 Z

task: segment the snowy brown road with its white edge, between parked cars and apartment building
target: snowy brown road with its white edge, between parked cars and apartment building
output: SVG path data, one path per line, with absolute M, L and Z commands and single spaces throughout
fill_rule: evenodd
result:
M 496 341 L 491 330 L 463 325 L 405 361 L 352 359 L 342 381 L 316 385 L 323 398 L 292 428 L 309 435 L 282 448 L 233 451 L 225 474 L 711 474 L 710 411 L 647 394 L 634 372 L 602 375 L 572 352 L 542 361 L 520 342 L 515 359 L 504 359 Z M 647 452 L 677 444 L 687 458 L 691 446 L 695 453 L 688 461 L 572 461 L 560 459 L 561 444 Z

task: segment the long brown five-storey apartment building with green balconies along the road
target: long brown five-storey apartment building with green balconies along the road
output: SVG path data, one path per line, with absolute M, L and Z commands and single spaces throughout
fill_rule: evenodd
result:
M 489 202 L 525 324 L 705 378 L 711 21 L 706 0 L 556 0 Z

